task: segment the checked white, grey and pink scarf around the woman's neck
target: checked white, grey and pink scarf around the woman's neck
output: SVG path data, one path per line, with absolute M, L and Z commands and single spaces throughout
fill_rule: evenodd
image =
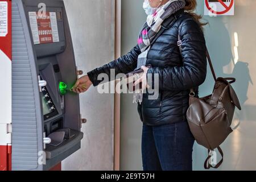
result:
M 138 56 L 136 69 L 140 69 L 143 65 L 146 65 L 148 51 L 151 48 L 150 43 L 160 31 L 164 20 L 184 7 L 185 0 L 169 0 L 166 4 L 159 7 L 154 14 L 147 16 L 147 22 L 144 24 L 138 38 L 138 46 L 142 53 Z M 139 89 L 135 91 L 133 102 L 141 104 L 142 95 L 143 90 Z

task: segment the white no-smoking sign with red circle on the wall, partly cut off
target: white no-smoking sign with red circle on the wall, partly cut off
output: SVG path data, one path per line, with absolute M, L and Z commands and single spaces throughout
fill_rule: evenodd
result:
M 205 0 L 204 15 L 234 15 L 234 0 Z

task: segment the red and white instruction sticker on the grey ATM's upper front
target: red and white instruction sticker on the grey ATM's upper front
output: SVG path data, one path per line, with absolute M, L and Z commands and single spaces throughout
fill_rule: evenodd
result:
M 55 12 L 46 12 L 45 15 L 28 12 L 28 16 L 34 44 L 60 42 Z

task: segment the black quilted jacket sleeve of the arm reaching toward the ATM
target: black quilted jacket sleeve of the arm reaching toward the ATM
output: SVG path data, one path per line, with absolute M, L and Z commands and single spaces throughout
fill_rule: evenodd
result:
M 135 46 L 127 55 L 119 57 L 117 60 L 110 62 L 109 64 L 105 64 L 100 68 L 93 69 L 92 71 L 88 72 L 87 75 L 89 76 L 90 81 L 92 81 L 94 86 L 97 86 L 102 81 L 106 80 L 98 80 L 98 75 L 101 73 L 105 73 L 108 75 L 109 80 L 112 81 L 113 79 L 110 77 L 110 70 L 114 69 L 115 76 L 119 73 L 127 74 L 133 71 L 137 67 L 137 60 L 138 55 L 141 53 L 141 49 L 139 46 Z

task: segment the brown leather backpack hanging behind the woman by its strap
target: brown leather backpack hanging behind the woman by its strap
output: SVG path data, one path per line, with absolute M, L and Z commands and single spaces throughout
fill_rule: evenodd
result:
M 236 78 L 216 78 L 208 51 L 207 59 L 215 80 L 213 93 L 203 98 L 197 98 L 191 89 L 187 110 L 187 120 L 191 133 L 197 143 L 208 148 L 209 155 L 204 163 L 205 169 L 218 168 L 222 164 L 224 155 L 220 145 L 233 131 L 230 125 L 235 108 L 241 110 L 237 94 L 231 86 Z M 220 152 L 222 159 L 215 166 L 212 166 L 209 163 L 209 159 L 212 157 L 210 152 L 215 148 Z

